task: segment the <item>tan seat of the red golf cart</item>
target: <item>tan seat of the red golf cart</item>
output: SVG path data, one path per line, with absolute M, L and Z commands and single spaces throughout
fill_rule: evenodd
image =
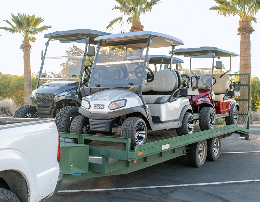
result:
M 215 93 L 215 101 L 223 101 L 227 99 L 229 90 L 229 80 L 227 78 L 216 78 L 217 82 L 212 86 L 212 91 Z

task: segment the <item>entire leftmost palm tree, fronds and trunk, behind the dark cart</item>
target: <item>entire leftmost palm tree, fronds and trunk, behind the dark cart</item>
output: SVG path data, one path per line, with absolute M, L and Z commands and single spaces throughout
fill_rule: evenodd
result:
M 27 14 L 17 14 L 15 16 L 12 15 L 12 21 L 15 25 L 9 20 L 3 20 L 8 23 L 11 27 L 0 27 L 0 29 L 4 29 L 5 31 L 9 31 L 11 33 L 20 33 L 23 35 L 24 40 L 21 45 L 21 49 L 23 50 L 23 68 L 24 68 L 24 77 L 23 77 L 23 99 L 24 104 L 32 104 L 32 100 L 29 98 L 31 95 L 31 58 L 30 58 L 30 49 L 31 42 L 35 42 L 36 38 L 34 35 L 41 33 L 42 31 L 51 28 L 51 26 L 42 26 L 38 27 L 40 23 L 44 21 L 42 17 L 35 17 L 35 15 L 27 15 Z

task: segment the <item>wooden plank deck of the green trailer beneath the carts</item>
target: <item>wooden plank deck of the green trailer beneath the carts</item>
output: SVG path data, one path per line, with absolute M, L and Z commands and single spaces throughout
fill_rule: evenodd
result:
M 220 125 L 216 125 L 215 128 L 221 127 Z M 200 127 L 198 124 L 195 125 L 195 130 L 194 132 L 199 132 Z M 96 135 L 101 135 L 102 134 L 96 134 Z M 120 133 L 115 133 L 113 136 L 120 136 Z M 152 131 L 148 130 L 147 132 L 147 139 L 146 143 L 150 142 L 155 142 L 159 140 L 164 140 L 172 137 L 178 136 L 176 133 L 175 129 L 169 129 L 169 130 L 157 130 L 157 131 Z M 122 145 L 122 143 L 116 143 L 116 142 L 107 142 L 107 141 L 97 141 L 93 140 L 91 143 L 89 143 L 90 146 L 92 147 L 105 147 L 109 149 L 123 149 L 125 150 L 125 147 Z

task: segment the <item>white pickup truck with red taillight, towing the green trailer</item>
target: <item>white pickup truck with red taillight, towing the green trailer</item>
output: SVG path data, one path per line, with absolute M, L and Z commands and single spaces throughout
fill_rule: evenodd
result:
M 0 117 L 1 202 L 39 202 L 56 193 L 59 162 L 55 120 Z

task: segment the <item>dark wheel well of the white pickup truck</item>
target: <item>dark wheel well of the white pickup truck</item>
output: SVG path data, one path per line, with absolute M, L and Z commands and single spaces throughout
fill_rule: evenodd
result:
M 28 201 L 29 188 L 23 175 L 14 170 L 0 172 L 0 188 L 13 192 L 20 201 Z

